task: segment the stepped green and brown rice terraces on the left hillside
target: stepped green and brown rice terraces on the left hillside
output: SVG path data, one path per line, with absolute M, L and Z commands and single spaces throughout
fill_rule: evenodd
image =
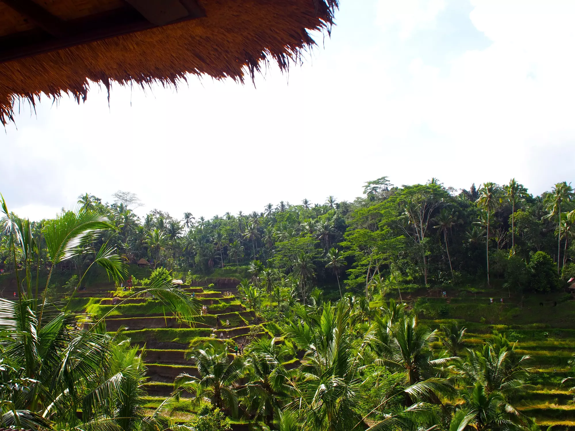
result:
M 201 345 L 217 338 L 224 340 L 230 352 L 236 344 L 247 344 L 250 337 L 263 335 L 266 330 L 256 322 L 253 310 L 246 310 L 237 300 L 237 291 L 225 293 L 205 290 L 203 287 L 183 286 L 183 291 L 193 293 L 207 313 L 196 316 L 196 322 L 188 325 L 173 317 L 160 301 L 151 297 L 116 300 L 112 296 L 128 293 L 112 292 L 106 289 L 85 291 L 75 300 L 76 308 L 84 306 L 95 318 L 106 317 L 106 329 L 116 332 L 121 329 L 132 344 L 145 346 L 150 381 L 146 384 L 151 397 L 166 397 L 173 391 L 174 378 L 186 372 L 197 375 L 196 367 L 185 359 L 190 347 Z

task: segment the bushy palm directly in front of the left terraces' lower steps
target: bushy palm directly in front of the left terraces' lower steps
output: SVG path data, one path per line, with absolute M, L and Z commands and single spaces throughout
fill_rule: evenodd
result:
M 228 359 L 225 343 L 209 344 L 204 349 L 194 349 L 186 354 L 198 368 L 200 378 L 180 374 L 174 381 L 175 391 L 193 394 L 196 403 L 209 398 L 212 406 L 237 413 L 237 383 L 244 374 L 244 364 L 240 357 Z

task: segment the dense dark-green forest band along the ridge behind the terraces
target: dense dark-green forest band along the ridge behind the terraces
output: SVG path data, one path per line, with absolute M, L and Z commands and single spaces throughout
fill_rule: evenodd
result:
M 78 204 L 117 228 L 94 238 L 94 248 L 106 243 L 132 263 L 143 258 L 154 268 L 189 275 L 187 282 L 214 271 L 225 276 L 226 267 L 246 278 L 262 273 L 296 286 L 305 303 L 316 286 L 332 299 L 346 291 L 373 297 L 397 286 L 476 286 L 494 279 L 509 293 L 555 290 L 575 276 L 573 196 L 566 182 L 533 196 L 515 179 L 457 193 L 436 179 L 396 187 L 384 176 L 366 183 L 353 202 L 330 196 L 323 204 L 269 203 L 262 212 L 210 220 L 191 213 L 178 219 L 160 210 L 140 220 L 133 212 L 137 197 L 125 192 L 111 205 L 89 194 Z M 50 265 L 40 236 L 45 224 L 32 223 L 44 272 Z M 21 265 L 21 256 L 16 260 Z M 5 271 L 13 269 L 7 236 L 0 261 Z M 81 274 L 90 263 L 82 255 L 72 265 Z

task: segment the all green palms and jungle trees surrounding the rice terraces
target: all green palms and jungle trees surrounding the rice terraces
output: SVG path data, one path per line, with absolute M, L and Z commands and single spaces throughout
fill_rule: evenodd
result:
M 455 193 L 436 179 L 394 187 L 382 177 L 354 202 L 281 202 L 209 221 L 152 211 L 142 222 L 129 209 L 136 198 L 117 195 L 105 205 L 86 194 L 77 211 L 41 222 L 2 199 L 2 277 L 17 288 L 0 299 L 1 426 L 215 431 L 233 418 L 278 431 L 539 429 L 516 408 L 530 383 L 528 355 L 497 331 L 470 343 L 455 322 L 430 329 L 401 295 L 564 287 L 574 268 L 569 184 L 533 197 L 515 180 Z M 143 298 L 141 307 L 158 302 L 189 323 L 201 302 L 174 275 L 244 275 L 241 301 L 261 322 L 240 354 L 233 340 L 193 335 L 193 367 L 154 409 L 145 407 L 145 348 L 121 328 L 106 331 L 120 305 L 72 310 L 91 268 L 119 284 L 140 259 L 155 270 L 124 298 Z M 77 271 L 64 296 L 50 294 L 59 265 Z M 192 420 L 173 414 L 182 399 Z

